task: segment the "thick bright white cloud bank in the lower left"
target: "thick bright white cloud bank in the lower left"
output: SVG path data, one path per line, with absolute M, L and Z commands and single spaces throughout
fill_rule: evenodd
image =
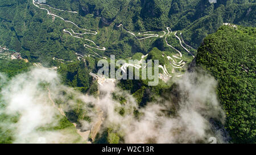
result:
M 3 77 L 3 76 L 2 76 Z M 47 69 L 33 69 L 10 79 L 2 87 L 2 102 L 6 104 L 5 114 L 18 116 L 18 122 L 1 122 L 4 129 L 14 132 L 13 143 L 63 143 L 67 135 L 56 131 L 42 131 L 40 128 L 56 125 L 58 111 L 49 101 L 43 84 L 56 86 L 57 74 Z M 1 78 L 1 81 L 5 80 Z

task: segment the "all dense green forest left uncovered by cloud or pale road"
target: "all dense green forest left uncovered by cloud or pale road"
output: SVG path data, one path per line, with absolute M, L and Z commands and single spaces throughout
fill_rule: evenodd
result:
M 56 16 L 47 15 L 47 11 L 34 6 L 32 0 L 0 0 L 0 45 L 20 52 L 29 61 L 26 63 L 23 60 L 1 58 L 0 73 L 5 73 L 8 79 L 27 72 L 32 68 L 32 63 L 41 62 L 44 67 L 60 67 L 57 73 L 65 85 L 83 94 L 98 97 L 98 83 L 89 73 L 97 72 L 97 61 L 103 57 L 108 61 L 110 55 L 125 60 L 141 60 L 142 55 L 148 54 L 145 60 L 159 60 L 159 64 L 166 65 L 164 67 L 168 73 L 174 72 L 174 75 L 185 73 L 189 64 L 196 63 L 218 81 L 216 91 L 226 113 L 225 128 L 229 131 L 232 142 L 255 143 L 254 0 L 217 0 L 217 3 L 206 0 L 47 0 L 46 4 L 64 11 L 48 6 L 40 7 L 76 23 L 80 28 Z M 77 14 L 68 11 L 76 11 Z M 241 26 L 222 26 L 224 23 Z M 172 31 L 168 35 L 167 27 Z M 76 33 L 96 31 L 97 35 L 85 33 L 81 35 L 84 39 L 76 38 L 64 32 L 71 31 L 71 28 Z M 143 35 L 138 32 L 146 31 L 154 31 L 159 36 L 164 31 L 164 35 L 139 40 Z M 131 35 L 131 32 L 138 38 Z M 73 35 L 76 36 L 75 33 Z M 184 39 L 183 45 L 191 54 L 180 45 L 176 35 Z M 96 46 L 85 39 L 93 40 L 98 47 L 105 47 L 106 50 L 85 48 L 84 44 Z M 184 68 L 174 68 L 167 58 L 176 56 L 177 50 L 183 55 Z M 84 61 L 79 61 L 81 57 L 78 56 L 84 56 Z M 194 61 L 192 56 L 196 56 Z M 163 70 L 159 69 L 159 72 L 163 73 Z M 117 86 L 129 92 L 139 108 L 160 97 L 173 102 L 180 98 L 172 80 L 160 80 L 153 87 L 148 86 L 148 79 L 127 79 L 119 81 Z M 2 83 L 0 90 L 1 87 Z M 112 95 L 120 104 L 127 102 L 125 96 Z M 73 94 L 68 99 L 73 99 Z M 67 100 L 60 99 L 56 103 L 64 104 Z M 77 104 L 65 112 L 67 118 L 62 118 L 59 124 L 47 129 L 74 129 L 71 122 L 78 126 L 81 125 L 81 120 L 90 122 L 86 111 L 80 108 L 84 104 L 77 100 Z M 1 94 L 0 106 L 5 108 Z M 172 109 L 168 112 L 175 115 L 176 111 Z M 119 114 L 124 115 L 125 110 L 119 110 Z M 134 110 L 133 115 L 137 118 L 140 114 Z M 18 116 L 0 115 L 0 121 L 15 123 L 16 119 Z M 0 143 L 12 143 L 13 137 L 9 136 L 11 132 L 0 128 Z M 123 143 L 123 140 L 119 133 L 107 128 L 101 136 L 97 135 L 95 143 Z

